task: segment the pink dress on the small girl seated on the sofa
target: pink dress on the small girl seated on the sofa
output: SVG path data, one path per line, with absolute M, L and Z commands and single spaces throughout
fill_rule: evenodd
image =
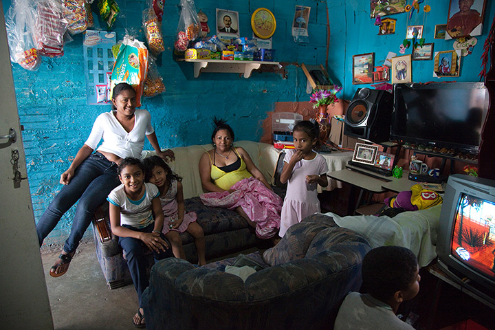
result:
M 162 232 L 166 234 L 170 230 L 175 230 L 176 232 L 185 232 L 189 227 L 190 223 L 195 222 L 197 215 L 195 212 L 184 212 L 184 220 L 179 225 L 177 229 L 170 229 L 171 221 L 177 221 L 179 219 L 179 214 L 177 211 L 177 181 L 170 183 L 170 188 L 165 196 L 160 196 L 160 203 L 162 204 L 162 210 L 164 212 L 164 228 Z

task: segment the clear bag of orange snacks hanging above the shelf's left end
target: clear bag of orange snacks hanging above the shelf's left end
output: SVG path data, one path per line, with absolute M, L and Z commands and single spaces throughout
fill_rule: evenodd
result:
M 175 50 L 184 52 L 188 48 L 190 41 L 198 39 L 201 25 L 199 25 L 199 18 L 193 0 L 181 0 L 181 8 L 174 46 Z

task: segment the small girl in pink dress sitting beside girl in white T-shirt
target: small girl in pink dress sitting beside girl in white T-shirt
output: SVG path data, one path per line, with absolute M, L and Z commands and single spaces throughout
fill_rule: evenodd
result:
M 173 173 L 166 162 L 158 156 L 145 158 L 143 165 L 146 182 L 151 182 L 158 187 L 159 199 L 165 216 L 162 232 L 170 241 L 174 256 L 186 259 L 179 233 L 188 232 L 195 239 L 198 265 L 206 265 L 203 228 L 196 222 L 195 212 L 184 212 L 182 178 Z

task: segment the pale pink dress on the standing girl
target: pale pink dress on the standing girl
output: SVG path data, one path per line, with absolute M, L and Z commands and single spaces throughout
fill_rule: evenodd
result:
M 294 153 L 294 149 L 287 150 L 284 162 L 288 163 Z M 278 232 L 281 237 L 291 225 L 302 221 L 308 215 L 320 212 L 320 201 L 316 190 L 318 184 L 308 184 L 306 175 L 326 175 L 327 172 L 327 161 L 318 153 L 314 159 L 301 159 L 294 166 L 287 182 L 287 195 L 285 195 L 282 207 L 281 229 Z

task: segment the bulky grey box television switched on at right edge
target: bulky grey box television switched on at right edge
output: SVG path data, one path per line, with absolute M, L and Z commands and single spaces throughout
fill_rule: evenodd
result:
M 495 181 L 450 175 L 437 236 L 441 266 L 452 278 L 495 305 Z

